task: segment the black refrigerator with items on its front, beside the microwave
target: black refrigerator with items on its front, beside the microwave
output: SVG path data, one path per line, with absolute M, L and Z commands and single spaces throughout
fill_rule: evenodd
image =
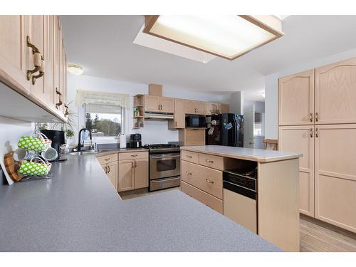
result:
M 205 144 L 244 147 L 244 116 L 233 113 L 206 116 Z

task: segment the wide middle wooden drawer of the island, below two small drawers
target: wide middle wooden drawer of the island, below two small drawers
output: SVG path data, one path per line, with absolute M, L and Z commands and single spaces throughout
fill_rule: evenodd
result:
M 181 169 L 181 177 L 184 182 L 222 199 L 221 171 L 184 161 L 182 161 Z

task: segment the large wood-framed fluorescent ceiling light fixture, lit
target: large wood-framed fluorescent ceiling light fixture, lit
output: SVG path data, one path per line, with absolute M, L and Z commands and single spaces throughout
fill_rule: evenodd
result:
M 283 36 L 276 16 L 145 16 L 144 33 L 233 60 Z

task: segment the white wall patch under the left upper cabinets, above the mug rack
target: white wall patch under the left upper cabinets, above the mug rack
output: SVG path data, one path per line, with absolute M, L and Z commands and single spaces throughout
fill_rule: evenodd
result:
M 0 116 L 0 147 L 16 144 L 22 135 L 33 129 L 34 125 L 31 122 Z

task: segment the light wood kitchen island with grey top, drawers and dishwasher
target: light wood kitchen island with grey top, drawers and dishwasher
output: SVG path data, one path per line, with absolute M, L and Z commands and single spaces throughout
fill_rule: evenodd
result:
M 283 250 L 299 251 L 301 156 L 219 145 L 181 147 L 182 192 Z M 233 178 L 224 181 L 224 174 Z

